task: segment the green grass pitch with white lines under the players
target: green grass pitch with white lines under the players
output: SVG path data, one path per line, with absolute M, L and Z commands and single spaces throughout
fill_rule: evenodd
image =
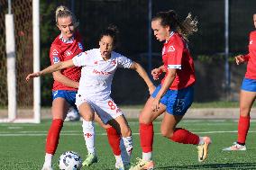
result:
M 138 122 L 129 121 L 133 130 L 133 162 L 141 157 L 138 135 Z M 224 152 L 222 148 L 230 146 L 236 139 L 237 122 L 235 121 L 182 121 L 179 127 L 193 131 L 200 136 L 210 136 L 210 146 L 206 162 L 197 162 L 197 148 L 182 145 L 164 139 L 160 135 L 160 121 L 154 124 L 154 155 L 156 169 L 256 169 L 256 122 L 251 121 L 247 138 L 247 151 Z M 1 170 L 38 170 L 44 160 L 44 145 L 50 121 L 41 124 L 0 124 L 0 169 Z M 73 150 L 84 158 L 87 154 L 82 136 L 81 122 L 65 122 L 61 131 L 59 148 L 53 159 L 54 169 L 58 169 L 61 153 Z M 96 148 L 99 162 L 84 168 L 114 169 L 114 156 L 107 143 L 105 130 L 96 125 Z

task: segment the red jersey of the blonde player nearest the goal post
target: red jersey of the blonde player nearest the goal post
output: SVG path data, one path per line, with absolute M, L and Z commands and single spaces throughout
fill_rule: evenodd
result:
M 60 34 L 51 44 L 50 63 L 53 65 L 60 61 L 72 59 L 83 51 L 84 47 L 78 32 L 76 32 L 70 40 L 64 40 Z M 63 76 L 67 76 L 69 79 L 78 82 L 81 76 L 81 67 L 69 67 L 60 70 L 60 72 Z M 54 81 L 52 91 L 56 90 L 78 91 L 77 88 L 69 87 L 58 81 Z

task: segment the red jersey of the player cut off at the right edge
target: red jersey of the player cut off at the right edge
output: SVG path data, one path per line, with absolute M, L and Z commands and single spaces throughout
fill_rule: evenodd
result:
M 250 33 L 248 49 L 249 54 L 243 56 L 245 60 L 248 60 L 245 78 L 256 79 L 256 31 Z

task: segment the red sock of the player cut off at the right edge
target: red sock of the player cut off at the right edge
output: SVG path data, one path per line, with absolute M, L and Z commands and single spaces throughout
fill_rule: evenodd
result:
M 238 121 L 238 137 L 237 142 L 245 144 L 246 136 L 250 128 L 250 116 L 242 117 L 240 116 Z

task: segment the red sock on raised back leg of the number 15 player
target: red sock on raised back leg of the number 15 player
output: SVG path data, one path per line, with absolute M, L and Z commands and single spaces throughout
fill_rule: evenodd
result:
M 197 145 L 199 143 L 199 137 L 196 134 L 189 132 L 188 130 L 184 130 L 181 128 L 177 128 L 174 132 L 171 140 L 183 143 L 183 144 L 193 144 Z

